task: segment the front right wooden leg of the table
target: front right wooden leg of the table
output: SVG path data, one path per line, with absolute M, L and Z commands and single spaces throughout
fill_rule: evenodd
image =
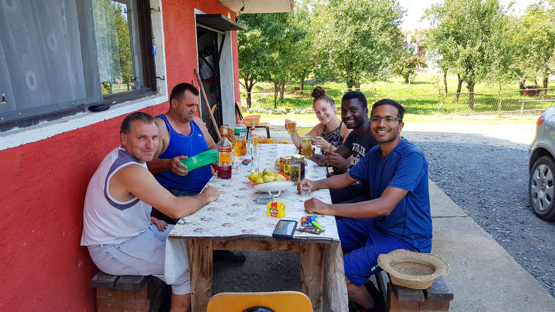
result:
M 312 309 L 321 312 L 324 295 L 324 245 L 301 243 L 300 266 L 302 292 L 309 297 Z

